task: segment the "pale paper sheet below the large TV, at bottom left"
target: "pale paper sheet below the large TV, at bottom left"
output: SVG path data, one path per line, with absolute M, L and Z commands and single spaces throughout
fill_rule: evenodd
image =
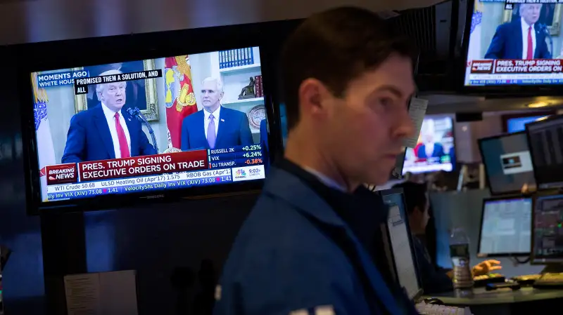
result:
M 65 276 L 68 315 L 138 315 L 134 270 Z

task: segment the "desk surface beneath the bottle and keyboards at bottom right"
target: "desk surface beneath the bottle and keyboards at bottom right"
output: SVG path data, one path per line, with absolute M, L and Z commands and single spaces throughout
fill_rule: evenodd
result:
M 548 314 L 542 313 L 549 309 L 560 309 L 563 304 L 563 289 L 546 290 L 524 287 L 520 290 L 500 289 L 486 291 L 485 288 L 474 288 L 472 293 L 438 293 L 424 298 L 436 297 L 443 304 L 457 307 L 469 307 L 474 315 L 517 315 L 517 314 Z M 557 307 L 558 306 L 558 307 Z

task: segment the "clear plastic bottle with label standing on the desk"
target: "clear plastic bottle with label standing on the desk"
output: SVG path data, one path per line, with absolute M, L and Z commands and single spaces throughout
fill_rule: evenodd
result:
M 453 264 L 453 288 L 471 289 L 473 275 L 469 264 L 469 237 L 462 228 L 455 228 L 450 235 L 450 256 Z

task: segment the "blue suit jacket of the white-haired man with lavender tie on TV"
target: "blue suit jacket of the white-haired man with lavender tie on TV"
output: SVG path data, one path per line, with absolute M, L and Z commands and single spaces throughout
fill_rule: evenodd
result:
M 182 121 L 182 151 L 210 149 L 207 138 L 205 138 L 205 130 L 203 109 L 184 118 Z M 246 114 L 235 109 L 221 107 L 215 148 L 252 145 L 253 143 Z

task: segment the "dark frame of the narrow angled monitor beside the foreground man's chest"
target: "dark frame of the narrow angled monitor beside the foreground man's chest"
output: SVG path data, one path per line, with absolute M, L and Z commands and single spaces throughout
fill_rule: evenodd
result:
M 410 230 L 410 224 L 409 224 L 409 213 L 407 210 L 407 199 L 405 198 L 405 192 L 403 190 L 403 188 L 391 188 L 391 189 L 385 189 L 385 190 L 381 190 L 379 191 L 379 194 L 381 196 L 381 199 L 383 199 L 384 203 L 387 205 L 388 203 L 385 202 L 385 196 L 390 196 L 390 195 L 396 195 L 396 194 L 400 194 L 400 198 L 403 202 L 403 208 L 400 208 L 400 211 L 405 215 L 405 226 L 407 227 L 407 237 L 409 239 L 409 246 L 410 246 L 410 251 L 412 253 L 412 259 L 413 262 L 412 264 L 414 264 L 415 266 L 415 273 L 417 274 L 417 283 L 418 283 L 418 292 L 415 294 L 414 297 L 412 297 L 413 301 L 416 301 L 419 299 L 419 297 L 422 296 L 423 294 L 423 288 L 422 288 L 422 278 L 420 276 L 420 267 L 418 265 L 418 259 L 417 259 L 417 253 L 415 250 L 415 243 L 414 240 L 412 239 L 413 236 Z M 393 203 L 395 204 L 395 203 Z M 385 233 L 386 233 L 386 238 L 388 240 L 388 246 L 389 248 L 391 248 L 391 251 L 393 250 L 393 244 L 391 244 L 391 235 L 389 234 L 389 227 L 388 227 L 388 222 L 385 221 Z M 395 262 L 395 255 L 393 255 L 393 253 L 391 253 L 391 257 L 388 257 L 388 260 L 391 261 L 391 263 L 393 264 L 390 267 L 393 267 L 393 276 L 395 276 L 395 279 L 397 281 L 397 283 L 399 283 L 399 274 L 397 271 L 397 267 L 396 267 L 396 262 Z M 400 283 L 399 283 L 400 285 Z

